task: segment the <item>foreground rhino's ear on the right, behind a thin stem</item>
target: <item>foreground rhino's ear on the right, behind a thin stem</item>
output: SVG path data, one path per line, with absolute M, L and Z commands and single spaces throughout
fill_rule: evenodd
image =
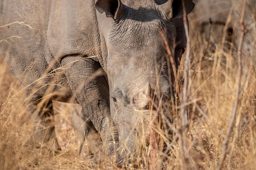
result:
M 186 14 L 188 15 L 195 7 L 192 0 L 184 0 Z M 171 18 L 181 18 L 183 16 L 182 0 L 168 0 L 161 5 L 163 11 Z

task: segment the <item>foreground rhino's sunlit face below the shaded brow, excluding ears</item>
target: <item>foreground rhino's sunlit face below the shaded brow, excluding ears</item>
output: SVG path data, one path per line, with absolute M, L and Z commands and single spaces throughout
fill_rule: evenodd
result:
M 127 14 L 132 10 L 127 9 Z M 119 132 L 119 142 L 128 148 L 135 144 L 138 124 L 147 123 L 154 112 L 150 111 L 150 92 L 159 84 L 161 92 L 170 95 L 166 76 L 166 55 L 159 28 L 168 29 L 170 44 L 175 40 L 173 22 L 164 20 L 158 11 L 153 16 L 161 20 L 143 21 L 150 15 L 138 9 L 138 16 L 113 22 L 112 34 L 108 35 L 107 75 L 110 87 L 110 113 Z M 158 80 L 159 78 L 159 80 Z M 151 115 L 151 116 L 150 116 Z M 128 149 L 127 148 L 127 149 Z M 121 152 L 121 151 L 120 151 Z M 127 150 L 129 152 L 129 150 Z

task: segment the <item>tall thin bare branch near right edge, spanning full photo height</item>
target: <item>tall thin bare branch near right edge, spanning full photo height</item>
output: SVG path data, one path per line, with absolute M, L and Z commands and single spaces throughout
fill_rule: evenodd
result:
M 230 121 L 229 121 L 229 126 L 227 128 L 227 132 L 226 132 L 226 136 L 222 145 L 222 153 L 220 156 L 220 164 L 218 167 L 218 170 L 221 170 L 223 167 L 223 163 L 224 160 L 226 158 L 226 154 L 227 154 L 227 146 L 228 146 L 228 142 L 229 142 L 229 137 L 231 136 L 232 130 L 233 130 L 233 126 L 234 126 L 234 121 L 236 119 L 236 112 L 237 112 L 237 108 L 238 108 L 238 101 L 239 101 L 239 95 L 240 95 L 240 84 L 241 84 L 241 79 L 242 79 L 242 44 L 243 44 L 243 39 L 245 36 L 245 26 L 244 26 L 244 17 L 245 17 L 245 7 L 246 7 L 246 1 L 243 1 L 243 9 L 242 9 L 242 15 L 241 15 L 241 19 L 240 19 L 240 26 L 242 29 L 242 33 L 240 35 L 240 40 L 239 40 L 239 44 L 238 44 L 238 79 L 237 79 L 237 87 L 236 87 L 236 97 L 235 97 L 235 101 L 234 101 L 234 105 L 232 108 L 232 112 L 231 112 L 231 117 L 230 117 Z

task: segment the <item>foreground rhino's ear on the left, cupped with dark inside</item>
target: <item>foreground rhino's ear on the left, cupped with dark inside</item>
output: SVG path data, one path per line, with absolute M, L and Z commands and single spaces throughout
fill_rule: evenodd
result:
M 117 20 L 124 13 L 124 4 L 121 0 L 98 0 L 95 4 L 99 13 L 106 13 L 106 17 Z

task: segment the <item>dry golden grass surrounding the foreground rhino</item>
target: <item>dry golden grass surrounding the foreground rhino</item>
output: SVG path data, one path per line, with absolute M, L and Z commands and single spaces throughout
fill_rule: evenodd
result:
M 237 86 L 238 52 L 233 48 L 224 50 L 221 43 L 215 44 L 215 49 L 209 49 L 209 43 L 195 31 L 194 26 L 191 22 L 193 34 L 186 102 L 181 102 L 181 105 L 163 103 L 158 107 L 158 120 L 165 121 L 164 117 L 168 116 L 172 124 L 151 124 L 150 146 L 146 146 L 145 139 L 138 142 L 137 147 L 142 148 L 137 153 L 139 156 L 124 168 L 215 170 L 220 164 L 225 137 L 228 142 L 222 169 L 253 170 L 256 167 L 255 65 L 249 58 L 242 57 L 240 86 Z M 178 75 L 183 75 L 183 68 L 181 65 Z M 236 117 L 233 128 L 227 134 L 237 88 Z M 60 154 L 40 154 L 40 149 L 26 146 L 34 125 L 27 113 L 22 87 L 2 60 L 0 89 L 0 169 L 119 169 L 109 160 L 95 165 L 89 159 L 78 156 L 79 142 L 70 125 L 71 113 L 74 112 L 72 104 L 54 102 L 56 134 L 62 149 Z M 171 115 L 166 115 L 166 108 Z M 185 129 L 181 122 L 182 109 L 188 115 Z M 170 135 L 170 132 L 173 134 Z M 162 151 L 164 146 L 168 151 Z

